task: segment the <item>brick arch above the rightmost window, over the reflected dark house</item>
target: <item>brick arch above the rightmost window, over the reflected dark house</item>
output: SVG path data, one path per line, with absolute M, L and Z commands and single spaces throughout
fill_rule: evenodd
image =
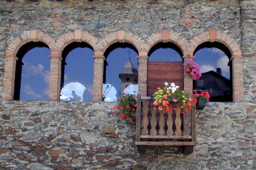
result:
M 187 46 L 186 51 L 193 53 L 198 45 L 204 42 L 221 42 L 230 50 L 232 56 L 242 55 L 240 45 L 236 42 L 236 40 L 224 32 L 216 30 L 205 31 L 192 38 Z

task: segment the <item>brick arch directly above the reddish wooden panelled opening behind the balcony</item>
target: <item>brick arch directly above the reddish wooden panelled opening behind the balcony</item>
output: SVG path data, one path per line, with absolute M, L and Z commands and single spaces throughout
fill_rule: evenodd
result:
M 163 31 L 154 33 L 147 38 L 147 40 L 145 41 L 145 51 L 147 51 L 147 54 L 149 50 L 158 42 L 174 43 L 180 48 L 183 55 L 187 45 L 187 40 L 184 37 L 180 36 L 179 34 L 173 31 L 163 30 Z

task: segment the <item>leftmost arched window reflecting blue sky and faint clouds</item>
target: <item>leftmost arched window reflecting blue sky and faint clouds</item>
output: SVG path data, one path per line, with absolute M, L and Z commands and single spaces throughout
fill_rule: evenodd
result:
M 51 54 L 43 42 L 28 42 L 17 52 L 15 100 L 48 100 Z

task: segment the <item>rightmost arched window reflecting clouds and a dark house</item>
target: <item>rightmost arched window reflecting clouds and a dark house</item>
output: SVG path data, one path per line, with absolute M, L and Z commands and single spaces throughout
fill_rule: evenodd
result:
M 202 77 L 194 80 L 193 89 L 208 91 L 211 102 L 232 102 L 231 53 L 220 42 L 204 42 L 195 49 L 194 61 Z

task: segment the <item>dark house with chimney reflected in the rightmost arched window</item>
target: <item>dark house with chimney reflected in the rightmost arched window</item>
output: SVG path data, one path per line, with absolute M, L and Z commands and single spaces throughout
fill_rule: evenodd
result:
M 208 91 L 211 102 L 231 102 L 231 81 L 221 74 L 221 68 L 215 71 L 207 71 L 202 73 L 202 77 L 195 81 L 195 90 Z

